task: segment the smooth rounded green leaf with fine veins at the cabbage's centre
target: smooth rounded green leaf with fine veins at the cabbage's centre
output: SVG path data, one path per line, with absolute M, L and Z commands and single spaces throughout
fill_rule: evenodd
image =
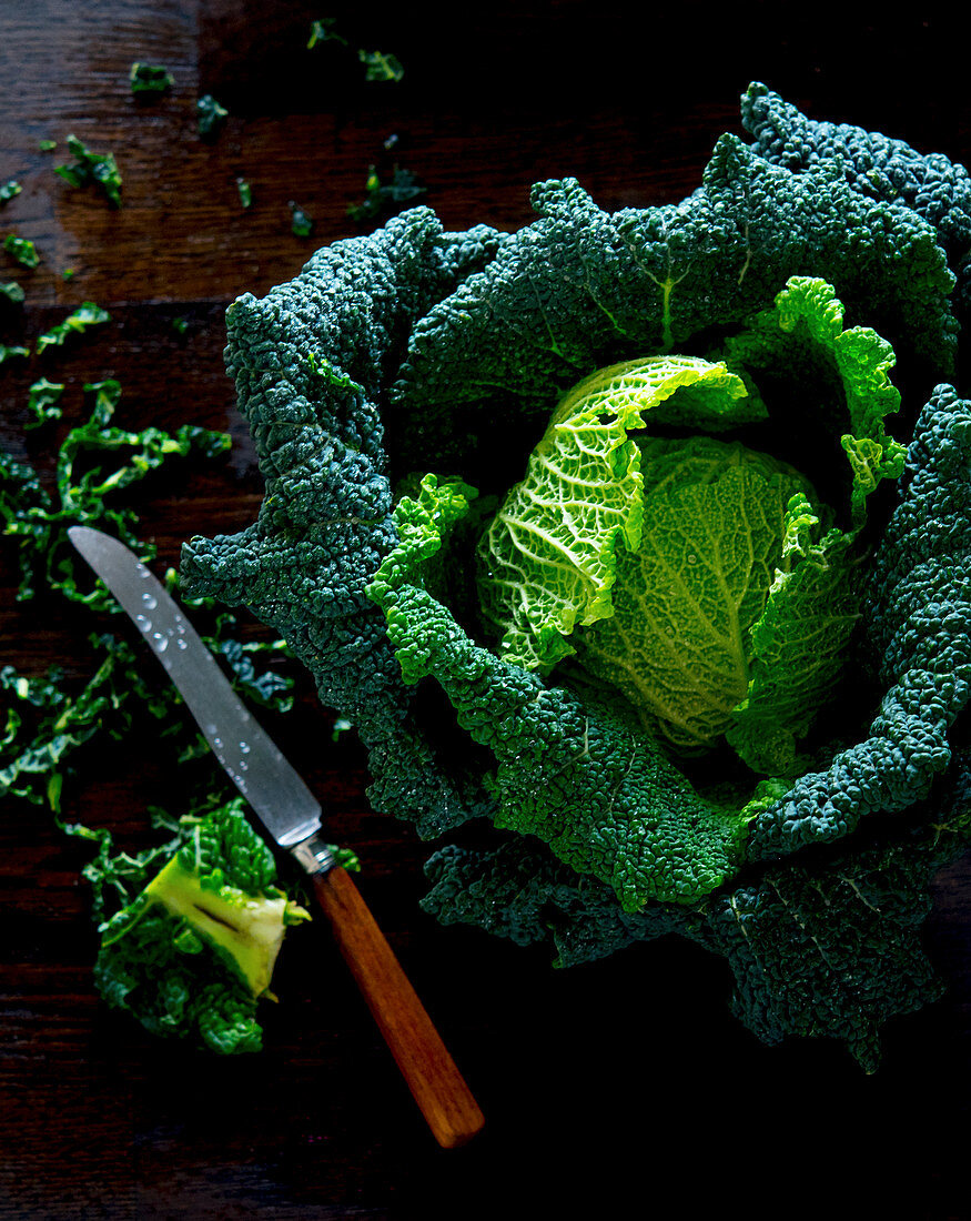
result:
M 578 661 L 674 745 L 711 745 L 749 689 L 750 632 L 782 560 L 795 471 L 708 437 L 644 438 L 644 534 L 618 548 L 613 617 Z

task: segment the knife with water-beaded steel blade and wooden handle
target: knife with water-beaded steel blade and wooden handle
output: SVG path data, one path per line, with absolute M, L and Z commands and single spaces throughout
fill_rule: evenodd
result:
M 264 828 L 310 874 L 337 946 L 432 1136 L 465 1144 L 485 1120 L 351 874 L 320 829 L 320 803 L 238 698 L 162 585 L 117 538 L 71 526 L 71 542 L 114 593 Z

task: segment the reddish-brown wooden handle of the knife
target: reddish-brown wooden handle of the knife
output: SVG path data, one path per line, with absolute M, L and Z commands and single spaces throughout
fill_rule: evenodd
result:
M 445 1149 L 465 1144 L 482 1112 L 351 874 L 340 866 L 314 874 L 314 890 L 432 1136 Z

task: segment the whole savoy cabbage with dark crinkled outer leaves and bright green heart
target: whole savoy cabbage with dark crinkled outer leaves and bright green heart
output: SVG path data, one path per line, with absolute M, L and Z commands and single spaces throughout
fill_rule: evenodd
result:
M 971 838 L 971 188 L 760 84 L 743 121 L 675 206 L 415 208 L 235 302 L 266 496 L 183 576 L 448 836 L 442 921 L 561 965 L 679 933 L 762 1039 L 872 1068 Z

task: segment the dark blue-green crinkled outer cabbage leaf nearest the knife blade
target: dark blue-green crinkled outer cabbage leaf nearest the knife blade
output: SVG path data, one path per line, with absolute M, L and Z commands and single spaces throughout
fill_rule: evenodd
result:
M 415 317 L 489 261 L 479 227 L 447 234 L 415 209 L 366 238 L 320 250 L 300 276 L 227 315 L 227 368 L 253 432 L 266 497 L 242 535 L 183 551 L 191 593 L 245 604 L 285 636 L 371 750 L 371 800 L 423 834 L 492 799 L 452 769 L 425 728 L 365 589 L 396 541 L 377 408 L 388 353 Z M 385 795 L 387 794 L 387 795 Z

